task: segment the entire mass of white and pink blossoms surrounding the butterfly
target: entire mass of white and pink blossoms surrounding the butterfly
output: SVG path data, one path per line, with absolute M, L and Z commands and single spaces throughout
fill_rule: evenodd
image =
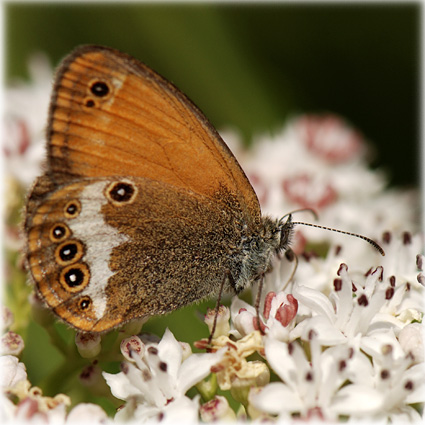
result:
M 44 155 L 51 74 L 38 65 L 34 86 L 6 95 L 6 171 L 23 185 L 39 174 Z M 90 366 L 125 402 L 114 421 L 423 420 L 425 258 L 415 234 L 417 195 L 387 189 L 384 174 L 368 168 L 361 135 L 332 115 L 294 119 L 250 151 L 232 143 L 232 134 L 225 139 L 266 213 L 313 208 L 323 225 L 379 240 L 386 256 L 356 238 L 297 226 L 297 261 L 276 261 L 258 315 L 254 303 L 238 297 L 230 309 L 207 315 L 210 331 L 217 320 L 215 334 L 196 344 L 207 353 L 192 353 L 167 330 L 159 342 L 123 339 L 119 373 Z M 326 253 L 318 255 L 322 245 Z M 11 320 L 5 310 L 6 329 Z M 84 358 L 101 353 L 98 336 L 77 335 L 76 343 Z M 3 335 L 2 423 L 112 421 L 94 404 L 67 413 L 68 396 L 45 397 L 32 387 L 19 361 L 23 348 L 18 335 Z

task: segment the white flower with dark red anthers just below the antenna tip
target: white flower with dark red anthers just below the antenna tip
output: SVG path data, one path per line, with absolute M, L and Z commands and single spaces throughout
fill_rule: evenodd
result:
M 335 345 L 359 334 L 365 336 L 404 326 L 391 306 L 401 304 L 406 296 L 405 285 L 394 290 L 391 278 L 383 280 L 382 267 L 364 277 L 349 274 L 348 267 L 341 264 L 338 275 L 329 296 L 304 285 L 294 285 L 294 296 L 312 312 L 311 318 L 296 326 L 294 336 L 306 339 L 309 330 L 314 329 L 322 344 Z

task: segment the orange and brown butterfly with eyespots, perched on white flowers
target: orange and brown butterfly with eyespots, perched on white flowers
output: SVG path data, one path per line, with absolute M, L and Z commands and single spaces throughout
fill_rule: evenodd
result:
M 64 59 L 25 233 L 37 293 L 65 322 L 103 332 L 237 293 L 291 229 L 261 216 L 229 148 L 170 82 L 107 47 Z

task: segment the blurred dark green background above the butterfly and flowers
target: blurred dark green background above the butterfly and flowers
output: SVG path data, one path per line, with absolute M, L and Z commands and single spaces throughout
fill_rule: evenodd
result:
M 393 184 L 419 180 L 420 2 L 6 3 L 6 79 L 44 51 L 121 49 L 247 143 L 295 113 L 334 112 L 377 147 Z

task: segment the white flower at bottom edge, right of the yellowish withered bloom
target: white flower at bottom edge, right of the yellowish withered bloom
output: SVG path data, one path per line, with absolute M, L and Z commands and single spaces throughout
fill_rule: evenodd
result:
M 256 409 L 279 415 L 281 419 L 296 414 L 302 419 L 328 421 L 354 409 L 350 401 L 345 403 L 345 410 L 339 402 L 342 392 L 347 392 L 345 383 L 353 370 L 349 365 L 356 358 L 353 349 L 338 346 L 321 351 L 319 341 L 311 334 L 310 350 L 311 360 L 298 343 L 287 344 L 267 338 L 267 361 L 282 382 L 273 382 L 252 392 L 250 402 Z M 374 389 L 367 393 L 353 391 L 351 398 L 354 395 L 363 395 L 362 404 L 356 403 L 358 412 L 367 414 L 382 407 L 382 397 Z

